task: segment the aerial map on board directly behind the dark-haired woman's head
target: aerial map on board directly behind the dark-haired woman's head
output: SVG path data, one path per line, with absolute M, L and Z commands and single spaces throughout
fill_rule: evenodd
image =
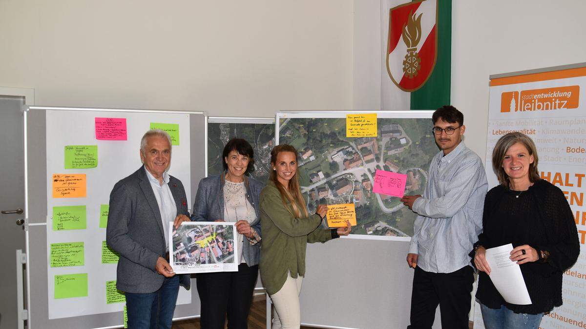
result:
M 254 149 L 254 172 L 250 176 L 266 183 L 271 168 L 271 150 L 275 144 L 274 124 L 208 123 L 208 176 L 222 172 L 222 151 L 226 143 L 235 137 L 246 139 Z

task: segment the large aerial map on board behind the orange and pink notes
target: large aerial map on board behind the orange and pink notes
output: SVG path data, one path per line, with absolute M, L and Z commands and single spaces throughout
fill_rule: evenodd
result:
M 378 169 L 406 174 L 405 194 L 423 195 L 430 161 L 438 152 L 431 112 L 425 112 L 403 115 L 417 118 L 385 118 L 397 114 L 379 113 L 377 136 L 358 138 L 346 137 L 344 114 L 335 118 L 281 114 L 279 143 L 291 144 L 299 152 L 299 184 L 309 210 L 315 211 L 317 204 L 354 203 L 353 238 L 411 237 L 417 215 L 399 197 L 372 190 Z

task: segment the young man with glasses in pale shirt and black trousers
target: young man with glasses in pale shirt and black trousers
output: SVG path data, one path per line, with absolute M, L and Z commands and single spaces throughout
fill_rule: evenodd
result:
M 467 329 L 474 282 L 468 253 L 482 231 L 488 184 L 480 157 L 462 142 L 462 112 L 445 105 L 432 122 L 441 151 L 431 160 L 423 197 L 401 198 L 418 214 L 407 254 L 415 269 L 407 328 L 431 328 L 439 304 L 442 328 Z

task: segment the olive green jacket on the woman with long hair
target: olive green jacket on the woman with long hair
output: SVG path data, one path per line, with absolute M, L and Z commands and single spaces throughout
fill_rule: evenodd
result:
M 289 205 L 289 203 L 287 203 Z M 281 194 L 271 180 L 260 193 L 260 225 L 263 232 L 260 249 L 260 277 L 267 293 L 278 292 L 291 277 L 305 275 L 307 242 L 332 239 L 331 229 L 321 228 L 318 214 L 295 218 L 283 206 Z

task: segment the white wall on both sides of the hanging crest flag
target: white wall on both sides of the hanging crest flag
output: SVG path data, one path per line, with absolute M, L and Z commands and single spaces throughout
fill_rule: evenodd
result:
M 353 107 L 379 108 L 380 1 L 354 5 Z M 583 0 L 452 0 L 452 105 L 464 113 L 466 146 L 482 159 L 490 74 L 586 61 L 585 12 Z

